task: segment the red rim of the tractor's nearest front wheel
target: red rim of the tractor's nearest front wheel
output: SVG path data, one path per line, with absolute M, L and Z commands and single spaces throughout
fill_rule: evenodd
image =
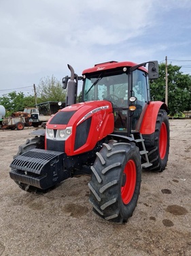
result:
M 136 184 L 136 166 L 133 160 L 129 160 L 124 167 L 123 177 L 125 177 L 125 182 L 122 182 L 121 195 L 124 204 L 131 201 Z

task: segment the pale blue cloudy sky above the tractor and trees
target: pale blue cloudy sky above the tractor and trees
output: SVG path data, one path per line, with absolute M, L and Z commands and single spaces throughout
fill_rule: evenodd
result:
M 191 74 L 190 0 L 0 0 L 0 97 L 95 63 L 158 60 Z

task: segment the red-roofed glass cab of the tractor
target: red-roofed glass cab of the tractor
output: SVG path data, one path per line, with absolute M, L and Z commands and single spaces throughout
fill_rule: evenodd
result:
M 110 61 L 83 72 L 82 101 L 112 103 L 114 134 L 129 136 L 132 130 L 139 131 L 139 117 L 150 102 L 148 72 L 143 67 L 135 67 L 132 62 Z

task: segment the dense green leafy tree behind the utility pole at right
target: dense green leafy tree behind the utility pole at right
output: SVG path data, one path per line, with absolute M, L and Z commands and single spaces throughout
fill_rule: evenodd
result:
M 159 78 L 151 83 L 151 96 L 154 100 L 165 100 L 165 64 L 159 65 Z M 182 74 L 181 67 L 168 66 L 168 102 L 169 111 L 172 115 L 179 111 L 190 110 L 191 100 L 191 77 Z

